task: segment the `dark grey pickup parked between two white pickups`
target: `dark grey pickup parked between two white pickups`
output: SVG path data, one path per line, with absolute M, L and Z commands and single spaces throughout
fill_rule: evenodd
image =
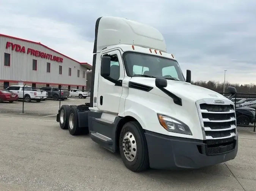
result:
M 47 98 L 53 99 L 53 100 L 66 100 L 69 96 L 69 91 L 61 90 L 59 88 L 54 87 L 43 87 L 42 90 L 46 91 L 48 93 Z

